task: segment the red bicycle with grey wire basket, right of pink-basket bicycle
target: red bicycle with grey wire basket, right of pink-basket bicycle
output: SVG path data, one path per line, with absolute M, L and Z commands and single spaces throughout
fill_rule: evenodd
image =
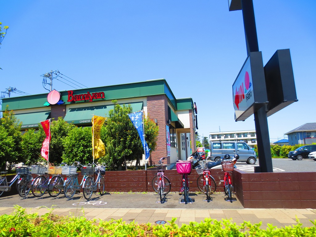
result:
M 206 194 L 206 200 L 212 201 L 211 194 L 216 191 L 216 182 L 213 176 L 210 174 L 210 170 L 207 166 L 208 161 L 203 161 L 201 165 L 195 167 L 196 172 L 200 175 L 197 178 L 197 187 L 200 191 Z

